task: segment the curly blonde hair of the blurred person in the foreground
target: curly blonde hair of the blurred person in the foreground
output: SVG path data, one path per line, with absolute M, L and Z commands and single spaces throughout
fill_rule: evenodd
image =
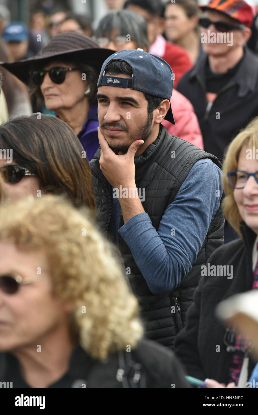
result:
M 133 349 L 143 335 L 138 302 L 114 248 L 63 197 L 45 195 L 1 203 L 0 240 L 20 250 L 42 250 L 53 293 L 72 305 L 71 329 L 85 352 L 105 359 Z M 86 214 L 86 215 L 85 215 Z

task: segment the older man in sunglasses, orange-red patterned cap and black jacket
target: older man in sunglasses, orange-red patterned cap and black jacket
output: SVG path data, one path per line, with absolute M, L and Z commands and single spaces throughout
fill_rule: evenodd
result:
M 178 83 L 192 103 L 204 150 L 222 161 L 224 149 L 258 115 L 258 59 L 245 47 L 253 9 L 243 0 L 210 0 L 201 6 L 204 56 Z M 225 242 L 236 234 L 225 226 Z

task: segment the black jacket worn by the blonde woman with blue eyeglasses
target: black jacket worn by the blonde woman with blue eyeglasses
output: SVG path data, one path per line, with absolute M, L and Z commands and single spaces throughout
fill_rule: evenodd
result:
M 226 384 L 229 381 L 232 352 L 226 351 L 226 326 L 217 320 L 214 308 L 231 295 L 252 289 L 252 249 L 256 234 L 244 224 L 242 233 L 243 240 L 236 239 L 219 247 L 207 261 L 210 266 L 232 265 L 233 278 L 201 278 L 194 301 L 187 312 L 186 325 L 175 341 L 175 352 L 183 362 L 187 374 L 199 379 L 211 378 Z M 254 366 L 255 363 L 250 359 L 248 376 L 251 376 Z

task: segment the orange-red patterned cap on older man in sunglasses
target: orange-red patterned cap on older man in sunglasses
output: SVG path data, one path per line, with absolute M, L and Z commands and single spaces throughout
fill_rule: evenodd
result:
M 200 8 L 224 13 L 249 28 L 253 23 L 253 9 L 243 0 L 210 0 L 207 5 L 200 5 Z

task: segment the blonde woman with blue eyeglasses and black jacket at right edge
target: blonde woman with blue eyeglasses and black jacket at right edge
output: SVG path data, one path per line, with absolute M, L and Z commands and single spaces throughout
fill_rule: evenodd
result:
M 207 388 L 246 388 L 256 365 L 251 341 L 232 324 L 225 329 L 214 309 L 234 294 L 258 288 L 258 118 L 229 145 L 223 176 L 224 215 L 239 239 L 216 249 L 201 267 L 175 352 L 188 375 L 205 380 Z

